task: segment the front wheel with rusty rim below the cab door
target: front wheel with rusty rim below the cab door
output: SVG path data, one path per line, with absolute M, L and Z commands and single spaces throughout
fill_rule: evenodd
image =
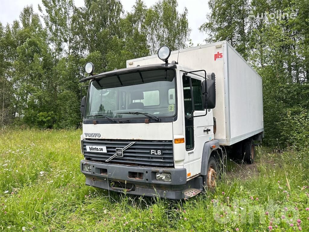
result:
M 204 189 L 213 190 L 216 187 L 218 175 L 218 164 L 215 157 L 211 156 L 208 160 L 207 174 L 203 176 Z

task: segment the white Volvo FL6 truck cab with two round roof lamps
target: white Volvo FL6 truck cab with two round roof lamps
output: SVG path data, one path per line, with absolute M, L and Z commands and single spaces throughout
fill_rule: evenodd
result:
M 216 76 L 168 62 L 93 75 L 81 102 L 80 162 L 86 184 L 133 195 L 183 199 L 214 188 L 224 168 L 215 139 Z

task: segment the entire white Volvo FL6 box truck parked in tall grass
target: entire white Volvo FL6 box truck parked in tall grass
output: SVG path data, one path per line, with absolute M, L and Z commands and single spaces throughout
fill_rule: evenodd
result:
M 94 75 L 88 62 L 85 70 L 80 169 L 87 185 L 189 198 L 216 186 L 226 150 L 254 161 L 254 141 L 264 133 L 262 79 L 228 42 L 162 46 L 124 69 Z

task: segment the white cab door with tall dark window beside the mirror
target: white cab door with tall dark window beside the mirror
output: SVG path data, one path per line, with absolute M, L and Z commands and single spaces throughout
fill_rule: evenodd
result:
M 186 153 L 190 175 L 193 177 L 201 172 L 201 157 L 205 142 L 213 139 L 211 115 L 205 115 L 202 100 L 202 80 L 194 75 L 183 76 L 184 96 L 184 130 Z

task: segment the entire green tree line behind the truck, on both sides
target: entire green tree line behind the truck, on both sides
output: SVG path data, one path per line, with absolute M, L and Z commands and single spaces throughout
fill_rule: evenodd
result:
M 26 6 L 19 21 L 0 24 L 1 127 L 78 127 L 78 80 L 85 76 L 87 61 L 101 73 L 155 54 L 163 44 L 172 50 L 193 46 L 188 11 L 178 12 L 177 6 L 176 0 L 151 7 L 137 0 L 132 11 L 124 12 L 119 0 L 86 0 L 79 8 L 73 0 L 43 0 L 39 10 L 44 26 L 33 7 Z M 292 141 L 286 126 L 291 123 L 291 133 L 303 135 L 294 122 L 309 107 L 304 84 L 309 81 L 308 2 L 210 0 L 209 6 L 207 22 L 200 27 L 205 41 L 229 41 L 263 78 L 265 142 L 303 147 L 303 137 Z M 277 10 L 296 12 L 296 17 L 265 15 Z M 252 17 L 262 13 L 262 18 Z

